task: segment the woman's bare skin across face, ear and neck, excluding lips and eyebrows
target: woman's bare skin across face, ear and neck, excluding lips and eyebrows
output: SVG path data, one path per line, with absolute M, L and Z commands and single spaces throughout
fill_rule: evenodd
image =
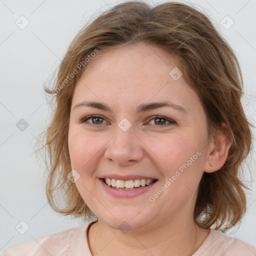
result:
M 125 45 L 100 51 L 76 84 L 68 147 L 72 169 L 80 175 L 77 189 L 98 217 L 88 230 L 92 255 L 191 255 L 209 233 L 193 221 L 198 183 L 204 171 L 223 166 L 230 132 L 222 129 L 214 139 L 208 138 L 206 116 L 195 91 L 183 76 L 174 80 L 169 75 L 176 66 L 176 58 L 160 47 Z M 103 102 L 111 111 L 73 109 L 84 100 Z M 156 101 L 171 101 L 186 112 L 170 107 L 135 112 L 139 104 Z M 103 119 L 80 121 L 91 114 Z M 156 115 L 175 123 L 157 122 Z M 131 124 L 127 131 L 118 127 L 123 118 Z M 197 151 L 200 156 L 149 201 Z M 103 190 L 98 179 L 109 173 L 152 176 L 158 184 L 134 198 L 116 198 Z M 130 226 L 126 233 L 118 228 L 123 221 Z

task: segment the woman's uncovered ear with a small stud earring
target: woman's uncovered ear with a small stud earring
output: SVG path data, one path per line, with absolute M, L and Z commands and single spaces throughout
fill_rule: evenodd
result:
M 229 127 L 223 123 L 209 143 L 209 150 L 203 167 L 204 172 L 219 170 L 225 163 L 228 151 L 232 145 L 232 134 Z

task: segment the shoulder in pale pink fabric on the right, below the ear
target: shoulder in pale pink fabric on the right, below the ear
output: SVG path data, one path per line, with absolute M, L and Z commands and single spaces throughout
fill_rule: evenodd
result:
M 193 254 L 193 256 L 197 255 L 255 256 L 256 247 L 239 238 L 211 229 L 201 247 Z

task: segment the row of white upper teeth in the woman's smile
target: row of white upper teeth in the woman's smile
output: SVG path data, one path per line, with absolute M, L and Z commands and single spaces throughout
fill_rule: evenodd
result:
M 116 188 L 134 188 L 134 187 L 139 187 L 139 186 L 145 186 L 145 185 L 150 185 L 153 180 L 148 178 L 148 179 L 130 179 L 130 180 L 120 180 L 120 179 L 114 179 L 114 178 L 105 178 L 104 179 L 106 184 L 112 187 Z

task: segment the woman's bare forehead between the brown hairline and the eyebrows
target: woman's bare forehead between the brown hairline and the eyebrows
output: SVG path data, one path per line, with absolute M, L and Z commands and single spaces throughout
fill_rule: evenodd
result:
M 179 79 L 170 75 L 178 65 L 173 54 L 145 43 L 99 50 L 76 84 L 74 103 L 100 99 L 121 107 L 132 106 L 131 102 L 138 105 L 161 100 L 182 104 L 187 109 L 195 107 L 199 103 L 195 91 L 182 75 Z

